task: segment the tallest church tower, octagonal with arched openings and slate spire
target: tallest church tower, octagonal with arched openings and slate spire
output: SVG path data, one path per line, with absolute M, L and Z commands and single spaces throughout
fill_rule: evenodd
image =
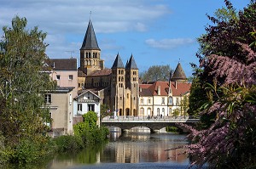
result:
M 101 59 L 101 49 L 98 46 L 91 20 L 80 48 L 80 69 L 86 75 L 90 75 L 93 70 L 104 69 L 104 60 Z

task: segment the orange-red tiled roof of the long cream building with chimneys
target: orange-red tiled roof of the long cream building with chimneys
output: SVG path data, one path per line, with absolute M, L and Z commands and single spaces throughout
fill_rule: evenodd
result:
M 177 85 L 177 87 L 175 87 Z M 160 86 L 160 96 L 167 96 L 169 91 L 169 82 L 154 82 L 153 84 L 140 84 L 142 92 L 140 96 L 157 96 L 157 88 Z M 189 93 L 191 83 L 188 82 L 172 82 L 172 96 L 180 96 Z M 148 93 L 148 90 L 150 93 Z

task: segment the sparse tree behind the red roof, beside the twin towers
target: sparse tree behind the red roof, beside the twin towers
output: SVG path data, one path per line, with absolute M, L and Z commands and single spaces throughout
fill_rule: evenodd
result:
M 142 82 L 169 81 L 170 65 L 152 65 L 140 74 Z

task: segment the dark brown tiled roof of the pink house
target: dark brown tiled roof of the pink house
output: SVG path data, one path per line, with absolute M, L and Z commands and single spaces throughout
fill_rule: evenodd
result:
M 77 59 L 48 59 L 45 63 L 52 70 L 77 70 Z

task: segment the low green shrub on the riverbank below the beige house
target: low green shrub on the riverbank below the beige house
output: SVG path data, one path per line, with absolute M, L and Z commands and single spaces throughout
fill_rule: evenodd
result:
M 54 141 L 58 152 L 78 151 L 84 148 L 82 139 L 77 136 L 63 135 L 54 138 Z

